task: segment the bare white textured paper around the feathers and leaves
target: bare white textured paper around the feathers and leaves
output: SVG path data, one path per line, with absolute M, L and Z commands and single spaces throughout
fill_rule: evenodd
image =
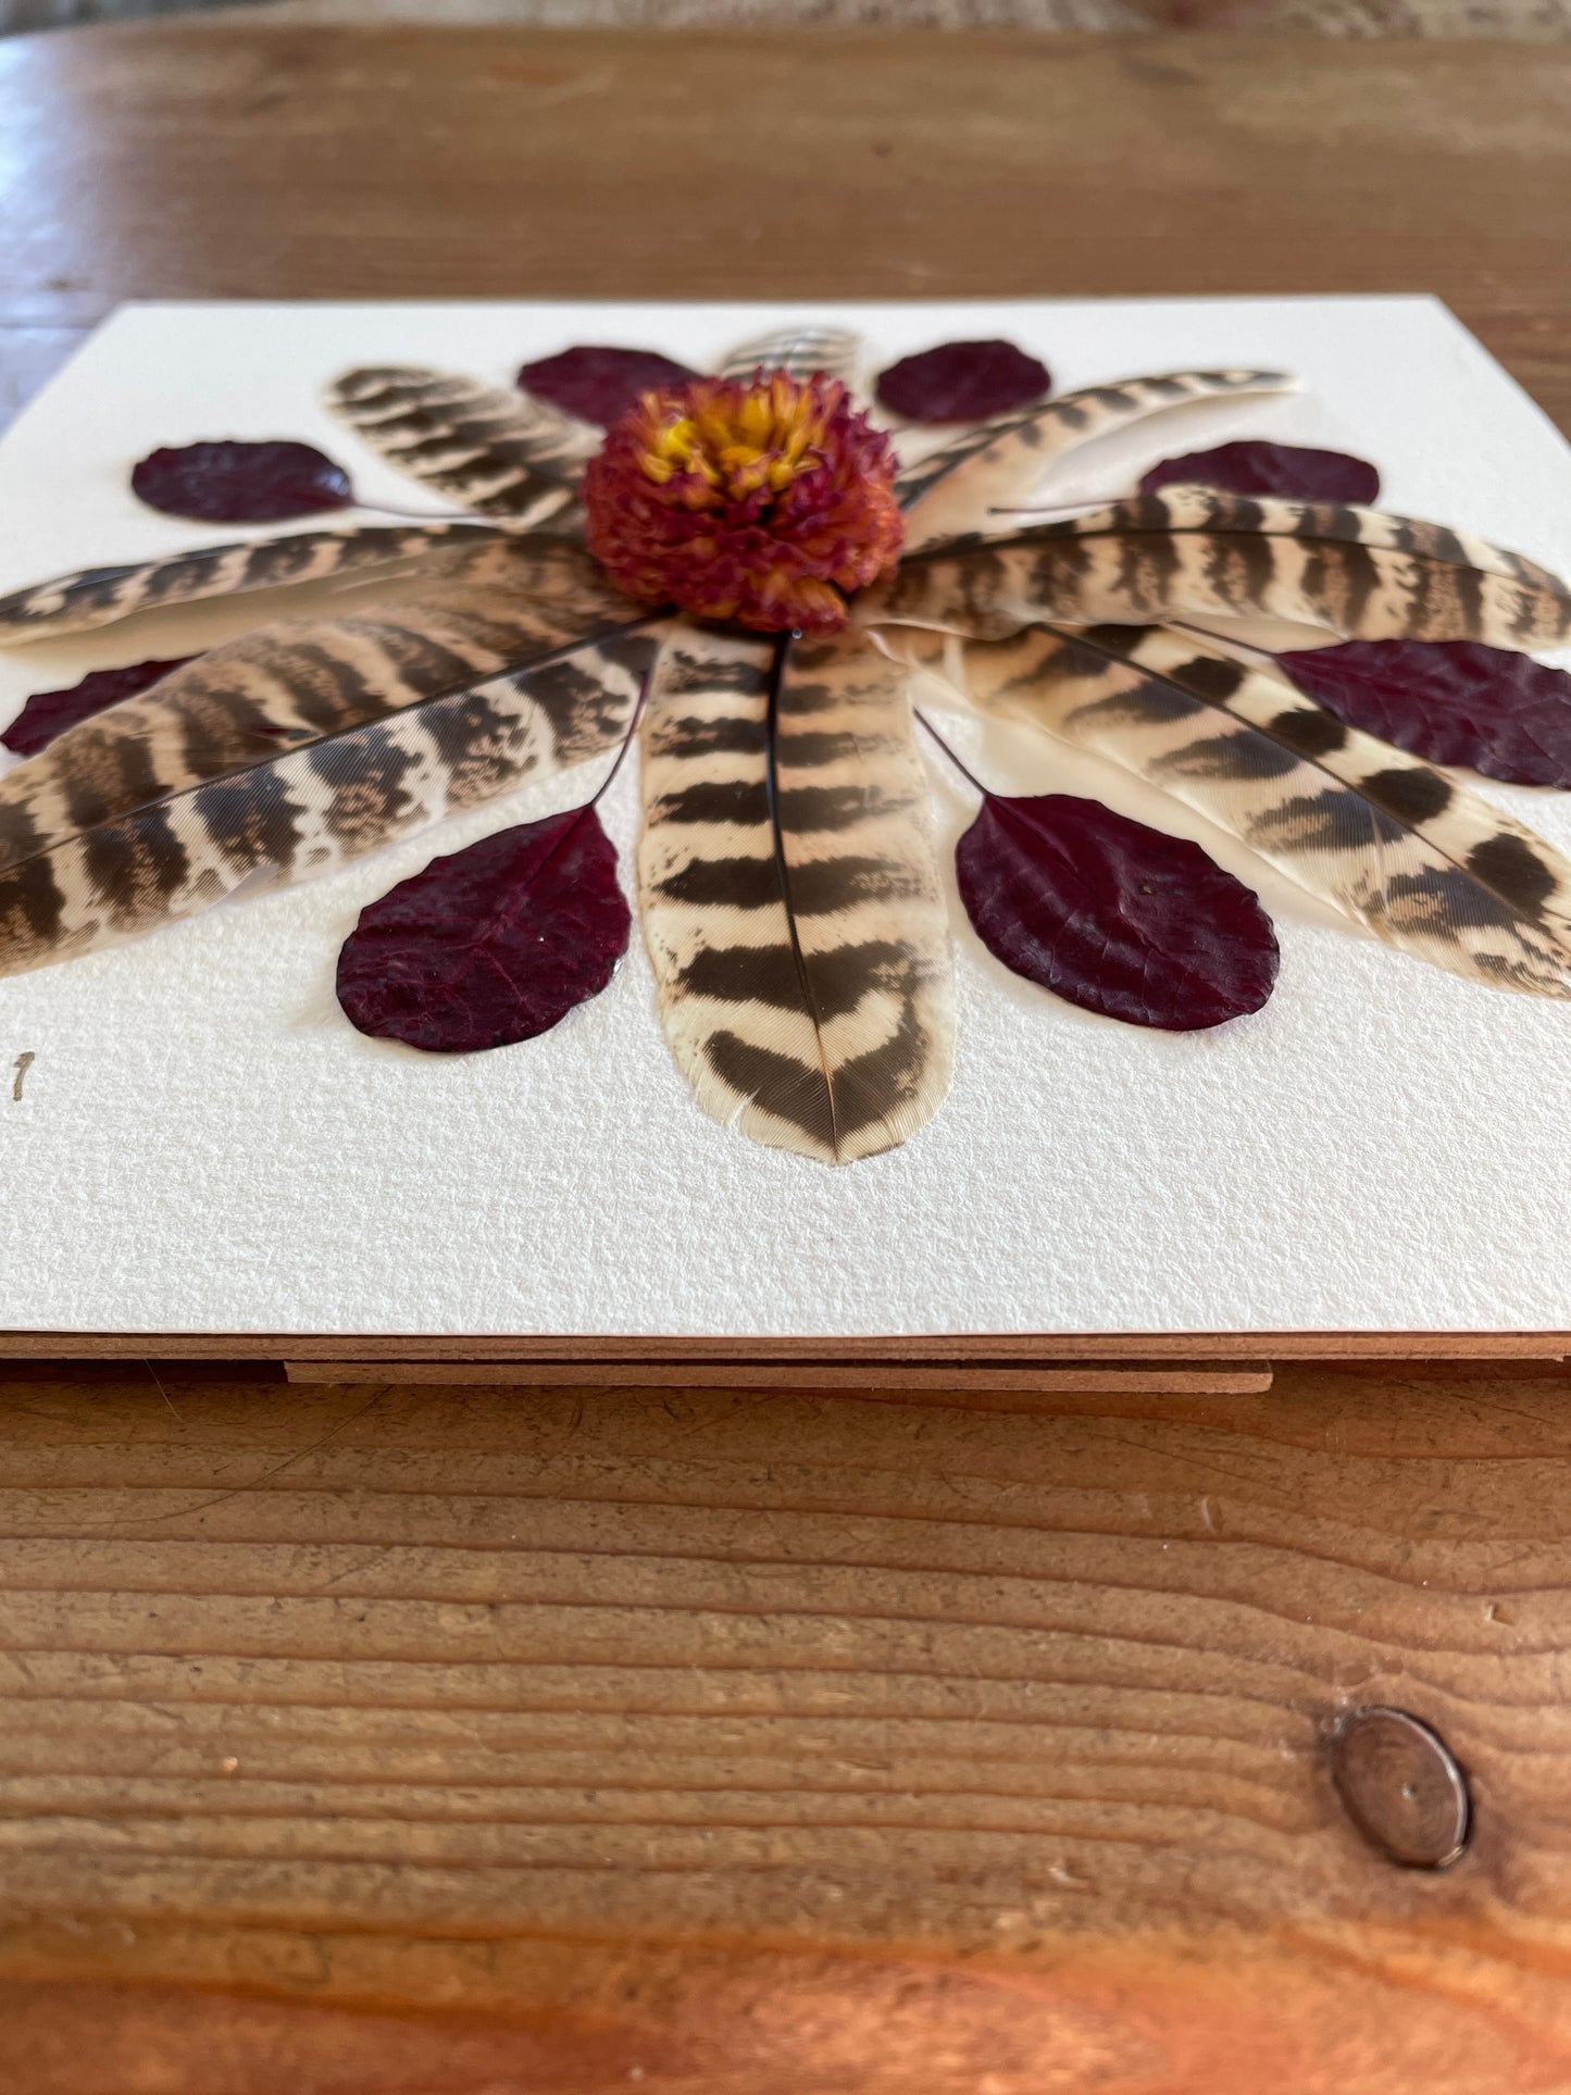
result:
M 572 341 L 706 362 L 804 308 L 130 306 L 0 442 L 0 589 L 212 543 L 153 515 L 157 444 L 297 436 L 364 499 L 436 509 L 318 406 L 350 362 L 507 379 Z M 1286 365 L 1305 394 L 1190 411 L 1066 461 L 1049 501 L 1276 436 L 1374 459 L 1385 505 L 1571 570 L 1571 450 L 1435 302 L 815 306 L 880 362 L 1008 335 L 1058 385 Z M 245 532 L 241 532 L 245 534 Z M 272 599 L 276 601 L 276 599 Z M 272 608 L 272 603 L 268 605 Z M 0 723 L 84 670 L 189 654 L 256 605 L 0 656 Z M 1014 790 L 1093 792 L 1194 836 L 1278 920 L 1282 976 L 1217 1033 L 1116 1027 L 1010 976 L 957 905 L 955 1085 L 842 1171 L 693 1104 L 635 945 L 551 1035 L 421 1058 L 333 999 L 360 907 L 440 851 L 582 798 L 517 792 L 337 878 L 0 983 L 0 1324 L 59 1330 L 917 1335 L 1571 1328 L 1571 1008 L 1454 980 L 1336 924 L 1108 765 L 951 716 Z M 1008 769 L 1005 769 L 1008 767 Z M 1571 796 L 1479 788 L 1571 848 Z M 953 844 L 972 802 L 934 773 Z M 633 767 L 605 807 L 624 855 Z M 31 1056 L 13 1100 L 13 1068 Z

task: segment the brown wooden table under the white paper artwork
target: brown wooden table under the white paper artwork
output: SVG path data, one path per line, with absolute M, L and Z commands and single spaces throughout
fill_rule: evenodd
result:
M 130 293 L 1435 289 L 1571 421 L 1552 48 L 239 19 L 0 109 L 13 398 Z M 1563 1364 L 262 1372 L 4 1368 L 6 2095 L 1571 2089 Z

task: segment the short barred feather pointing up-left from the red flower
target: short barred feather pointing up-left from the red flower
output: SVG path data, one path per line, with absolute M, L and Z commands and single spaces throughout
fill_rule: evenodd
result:
M 534 394 L 419 365 L 333 379 L 327 406 L 390 465 L 475 515 L 561 530 L 601 432 Z

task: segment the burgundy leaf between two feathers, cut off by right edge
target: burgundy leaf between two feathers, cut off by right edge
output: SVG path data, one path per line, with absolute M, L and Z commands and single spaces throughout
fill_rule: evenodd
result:
M 1338 721 L 1433 765 L 1571 786 L 1571 677 L 1479 641 L 1347 641 L 1280 654 Z

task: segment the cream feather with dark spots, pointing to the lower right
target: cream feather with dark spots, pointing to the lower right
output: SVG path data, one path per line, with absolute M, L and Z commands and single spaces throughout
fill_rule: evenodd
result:
M 1496 989 L 1571 997 L 1571 863 L 1269 670 L 1160 626 L 993 645 L 922 635 L 903 652 L 982 712 L 1173 794 L 1387 945 Z

